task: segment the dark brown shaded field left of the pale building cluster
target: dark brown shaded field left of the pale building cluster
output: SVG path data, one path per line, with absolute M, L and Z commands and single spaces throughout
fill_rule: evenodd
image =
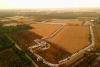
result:
M 33 46 L 35 39 L 41 39 L 42 36 L 30 31 L 18 31 L 10 34 L 10 36 L 18 43 L 21 48 Z

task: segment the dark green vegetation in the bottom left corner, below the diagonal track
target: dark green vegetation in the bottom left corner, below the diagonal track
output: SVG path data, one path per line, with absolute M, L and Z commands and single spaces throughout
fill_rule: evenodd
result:
M 34 67 L 25 56 L 21 57 L 16 53 L 14 48 L 4 50 L 0 53 L 0 67 Z

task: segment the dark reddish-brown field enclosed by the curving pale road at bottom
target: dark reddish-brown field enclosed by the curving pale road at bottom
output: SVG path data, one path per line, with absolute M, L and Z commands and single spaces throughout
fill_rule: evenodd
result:
M 39 54 L 40 56 L 42 56 L 46 61 L 50 63 L 54 63 L 54 64 L 57 64 L 58 61 L 63 60 L 71 55 L 69 52 L 63 50 L 61 47 L 53 43 L 50 43 L 50 44 L 51 46 L 49 49 L 44 50 L 44 51 L 37 50 L 35 52 Z

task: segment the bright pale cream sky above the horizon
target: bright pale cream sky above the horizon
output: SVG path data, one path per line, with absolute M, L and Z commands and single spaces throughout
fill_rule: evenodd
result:
M 100 0 L 0 0 L 0 9 L 100 7 Z

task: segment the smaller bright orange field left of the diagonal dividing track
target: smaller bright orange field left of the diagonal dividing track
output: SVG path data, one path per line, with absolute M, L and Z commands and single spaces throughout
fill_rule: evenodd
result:
M 30 32 L 35 32 L 43 37 L 50 36 L 53 32 L 59 29 L 62 25 L 60 24 L 32 24 L 33 29 Z

